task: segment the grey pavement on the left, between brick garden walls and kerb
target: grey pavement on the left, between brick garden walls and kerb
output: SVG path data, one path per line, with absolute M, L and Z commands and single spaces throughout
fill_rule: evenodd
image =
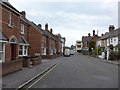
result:
M 50 68 L 52 65 L 61 62 L 62 57 L 56 59 L 43 59 L 42 63 L 31 68 L 8 74 L 2 77 L 2 88 L 18 88 L 36 75 Z

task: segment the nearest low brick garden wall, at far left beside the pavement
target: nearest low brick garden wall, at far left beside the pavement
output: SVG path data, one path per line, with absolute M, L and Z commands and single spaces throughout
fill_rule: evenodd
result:
M 22 69 L 22 60 L 13 60 L 2 63 L 2 75 L 6 75 Z

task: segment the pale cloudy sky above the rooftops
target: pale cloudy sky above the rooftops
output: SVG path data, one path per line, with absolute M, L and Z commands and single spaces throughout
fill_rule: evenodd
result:
M 118 0 L 9 0 L 19 11 L 44 29 L 48 23 L 54 34 L 66 38 L 66 46 L 82 40 L 96 30 L 108 32 L 109 25 L 118 28 Z

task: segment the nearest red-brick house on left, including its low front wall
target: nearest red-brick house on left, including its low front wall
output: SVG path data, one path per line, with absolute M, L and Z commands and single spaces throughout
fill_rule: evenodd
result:
M 29 24 L 24 21 L 23 15 L 9 2 L 1 2 L 0 5 L 2 12 L 0 32 L 7 40 L 2 46 L 4 49 L 4 57 L 1 56 L 4 58 L 2 69 L 3 74 L 7 74 L 22 69 L 21 57 L 28 55 L 27 30 Z

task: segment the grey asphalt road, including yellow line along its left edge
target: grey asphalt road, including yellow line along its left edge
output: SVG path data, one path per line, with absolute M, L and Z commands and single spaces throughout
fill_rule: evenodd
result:
M 61 61 L 26 88 L 118 88 L 118 66 L 75 54 Z

